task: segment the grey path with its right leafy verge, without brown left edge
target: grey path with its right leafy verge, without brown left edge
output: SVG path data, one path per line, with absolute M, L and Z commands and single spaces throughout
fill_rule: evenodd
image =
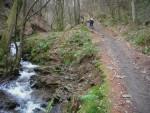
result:
M 119 67 L 119 76 L 131 96 L 136 113 L 150 113 L 150 57 L 139 54 L 126 41 L 108 33 L 96 23 L 95 31 L 103 37 L 101 48 Z

